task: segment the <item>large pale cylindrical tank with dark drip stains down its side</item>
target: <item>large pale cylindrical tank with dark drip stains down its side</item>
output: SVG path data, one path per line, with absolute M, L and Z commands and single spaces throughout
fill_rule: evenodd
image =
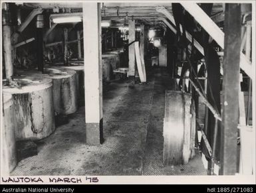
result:
M 14 77 L 16 86 L 5 86 L 3 93 L 13 95 L 15 137 L 43 139 L 55 131 L 53 84 L 38 76 Z

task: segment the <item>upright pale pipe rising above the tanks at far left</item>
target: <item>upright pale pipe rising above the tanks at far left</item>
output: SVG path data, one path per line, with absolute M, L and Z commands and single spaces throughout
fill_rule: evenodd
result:
M 5 76 L 7 85 L 13 76 L 13 61 L 11 59 L 11 19 L 9 3 L 3 3 L 3 55 L 5 58 Z

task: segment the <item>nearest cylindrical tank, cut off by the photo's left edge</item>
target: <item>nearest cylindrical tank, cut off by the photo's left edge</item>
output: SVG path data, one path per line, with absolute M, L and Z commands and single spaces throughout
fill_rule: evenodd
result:
M 3 155 L 1 172 L 4 175 L 9 173 L 17 165 L 17 152 L 16 152 L 16 141 L 15 141 L 15 127 L 13 123 L 13 97 L 11 94 L 3 94 Z

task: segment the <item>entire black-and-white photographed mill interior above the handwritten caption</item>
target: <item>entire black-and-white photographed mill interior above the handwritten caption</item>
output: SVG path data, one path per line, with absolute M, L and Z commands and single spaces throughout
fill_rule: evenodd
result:
M 251 3 L 1 9 L 2 174 L 255 174 Z

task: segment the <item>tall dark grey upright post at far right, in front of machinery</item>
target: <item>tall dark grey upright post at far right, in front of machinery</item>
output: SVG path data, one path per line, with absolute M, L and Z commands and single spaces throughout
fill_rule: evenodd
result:
M 221 175 L 237 172 L 237 123 L 239 112 L 239 60 L 241 46 L 241 5 L 225 5 L 225 50 L 223 64 L 223 105 L 221 123 Z

